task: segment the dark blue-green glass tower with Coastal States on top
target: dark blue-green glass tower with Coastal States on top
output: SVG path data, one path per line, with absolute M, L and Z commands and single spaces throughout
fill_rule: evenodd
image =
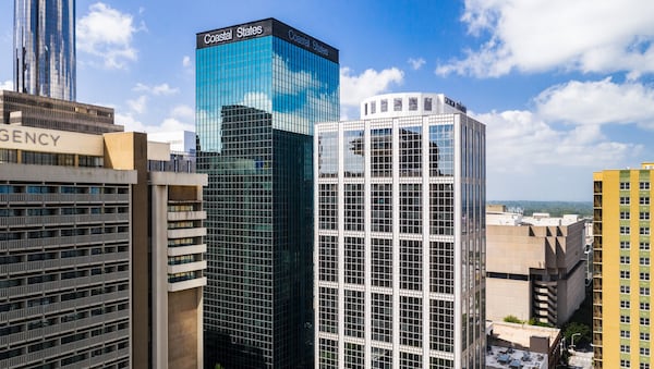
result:
M 268 19 L 198 34 L 196 63 L 205 366 L 313 367 L 313 127 L 339 118 L 338 50 Z

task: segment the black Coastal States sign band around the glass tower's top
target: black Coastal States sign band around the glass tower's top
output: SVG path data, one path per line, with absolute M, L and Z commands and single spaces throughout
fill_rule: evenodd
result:
M 196 35 L 197 49 L 274 35 L 325 59 L 338 62 L 338 50 L 275 19 L 235 25 Z

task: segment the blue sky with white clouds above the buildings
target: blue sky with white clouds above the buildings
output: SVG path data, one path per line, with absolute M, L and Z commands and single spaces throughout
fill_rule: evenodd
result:
M 444 93 L 486 123 L 489 200 L 591 200 L 654 161 L 654 1 L 77 0 L 77 100 L 131 131 L 193 128 L 195 34 L 276 17 L 340 50 L 341 115 Z M 11 89 L 13 1 L 0 2 Z

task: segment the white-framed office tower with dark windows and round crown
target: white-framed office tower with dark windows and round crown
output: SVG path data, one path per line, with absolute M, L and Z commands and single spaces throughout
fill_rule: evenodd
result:
M 439 94 L 319 123 L 315 367 L 483 368 L 485 125 Z

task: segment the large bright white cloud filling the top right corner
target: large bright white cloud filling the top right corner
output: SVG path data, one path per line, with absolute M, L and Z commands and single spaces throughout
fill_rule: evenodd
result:
M 485 38 L 436 73 L 497 77 L 518 70 L 654 72 L 654 2 L 467 0 L 461 21 Z

